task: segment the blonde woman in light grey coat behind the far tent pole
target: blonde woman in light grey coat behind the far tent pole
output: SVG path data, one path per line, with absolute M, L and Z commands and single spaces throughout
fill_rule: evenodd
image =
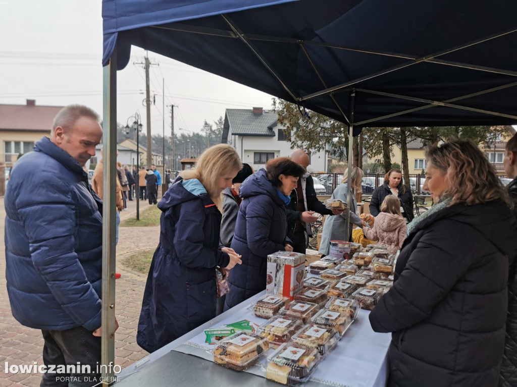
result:
M 348 192 L 351 192 L 352 203 L 348 206 L 350 210 L 348 235 L 345 235 L 346 211 L 341 215 L 328 216 L 325 220 L 325 224 L 323 225 L 320 253 L 328 255 L 331 240 L 351 240 L 354 224 L 359 227 L 363 226 L 363 221 L 359 218 L 359 215 L 357 215 L 357 202 L 355 198 L 356 194 L 362 192 L 361 181 L 363 177 L 364 173 L 362 172 L 362 169 L 353 166 L 350 175 L 351 184 L 348 184 L 348 168 L 345 169 L 345 172 L 343 173 L 343 181 L 338 185 L 338 187 L 336 187 L 334 192 L 332 192 L 332 196 L 330 196 L 330 198 L 340 199 L 343 203 L 346 203 L 348 200 Z M 366 225 L 366 223 L 364 223 L 364 225 Z

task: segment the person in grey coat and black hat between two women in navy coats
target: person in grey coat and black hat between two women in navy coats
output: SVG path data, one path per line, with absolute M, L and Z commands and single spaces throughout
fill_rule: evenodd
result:
M 223 191 L 223 218 L 221 221 L 220 239 L 221 244 L 225 247 L 230 247 L 230 244 L 232 243 L 235 231 L 235 222 L 237 221 L 237 213 L 239 212 L 239 206 L 242 202 L 242 199 L 239 196 L 240 184 L 242 184 L 242 182 L 251 175 L 253 175 L 253 168 L 249 164 L 243 163 L 242 169 L 232 180 L 232 188 L 226 188 Z M 225 299 L 226 295 L 218 297 L 216 316 L 223 313 Z

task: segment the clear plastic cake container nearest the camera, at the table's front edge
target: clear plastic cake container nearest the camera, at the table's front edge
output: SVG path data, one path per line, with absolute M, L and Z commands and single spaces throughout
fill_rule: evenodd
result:
M 320 363 L 320 353 L 294 342 L 280 346 L 268 357 L 266 379 L 285 385 L 298 385 L 309 380 Z

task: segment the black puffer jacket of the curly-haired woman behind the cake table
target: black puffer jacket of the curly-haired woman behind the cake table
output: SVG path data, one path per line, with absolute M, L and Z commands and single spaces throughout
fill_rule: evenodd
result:
M 416 225 L 370 314 L 374 331 L 393 332 L 390 386 L 497 385 L 516 235 L 498 202 L 447 207 Z

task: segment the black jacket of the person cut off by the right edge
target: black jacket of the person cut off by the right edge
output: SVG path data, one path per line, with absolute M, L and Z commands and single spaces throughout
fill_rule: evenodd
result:
M 508 191 L 512 199 L 517 202 L 517 178 L 508 184 Z M 509 263 L 505 353 L 499 380 L 501 387 L 517 385 L 517 257 L 512 257 Z

